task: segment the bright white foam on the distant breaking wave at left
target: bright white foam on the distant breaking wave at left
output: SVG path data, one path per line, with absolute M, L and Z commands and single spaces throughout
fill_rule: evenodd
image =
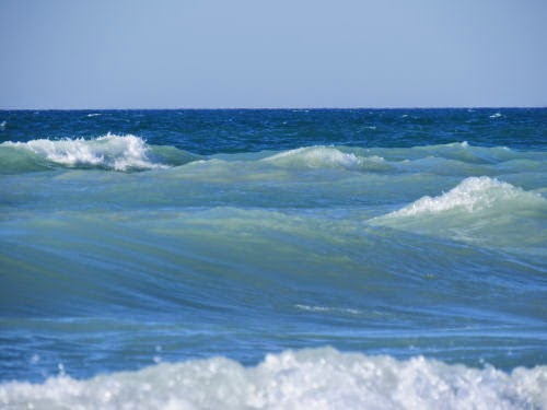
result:
M 116 171 L 164 167 L 150 161 L 149 148 L 136 136 L 108 133 L 93 140 L 39 139 L 7 144 L 30 150 L 48 161 L 68 166 L 97 166 Z

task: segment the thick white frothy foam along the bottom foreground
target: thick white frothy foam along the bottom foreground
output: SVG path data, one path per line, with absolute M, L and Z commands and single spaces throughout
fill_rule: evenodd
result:
M 421 356 L 334 349 L 267 355 L 256 367 L 216 358 L 159 363 L 89 380 L 0 385 L 10 409 L 524 409 L 547 407 L 547 366 L 472 368 Z

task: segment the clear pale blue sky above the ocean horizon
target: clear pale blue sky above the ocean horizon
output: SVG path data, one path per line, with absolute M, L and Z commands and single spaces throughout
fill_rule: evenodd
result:
M 547 106 L 545 0 L 0 0 L 0 109 Z

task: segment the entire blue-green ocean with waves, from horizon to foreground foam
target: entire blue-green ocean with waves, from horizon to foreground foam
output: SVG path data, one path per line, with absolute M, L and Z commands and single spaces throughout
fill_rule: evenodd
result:
M 547 409 L 547 108 L 0 110 L 0 408 Z

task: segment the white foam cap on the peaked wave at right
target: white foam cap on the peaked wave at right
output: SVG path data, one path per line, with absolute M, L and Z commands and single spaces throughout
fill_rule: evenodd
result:
M 486 176 L 469 177 L 439 197 L 422 197 L 409 206 L 392 212 L 391 216 L 415 216 L 439 213 L 455 208 L 474 212 L 490 208 L 500 200 L 515 198 L 524 191 L 511 184 Z M 532 194 L 529 194 L 532 195 Z

